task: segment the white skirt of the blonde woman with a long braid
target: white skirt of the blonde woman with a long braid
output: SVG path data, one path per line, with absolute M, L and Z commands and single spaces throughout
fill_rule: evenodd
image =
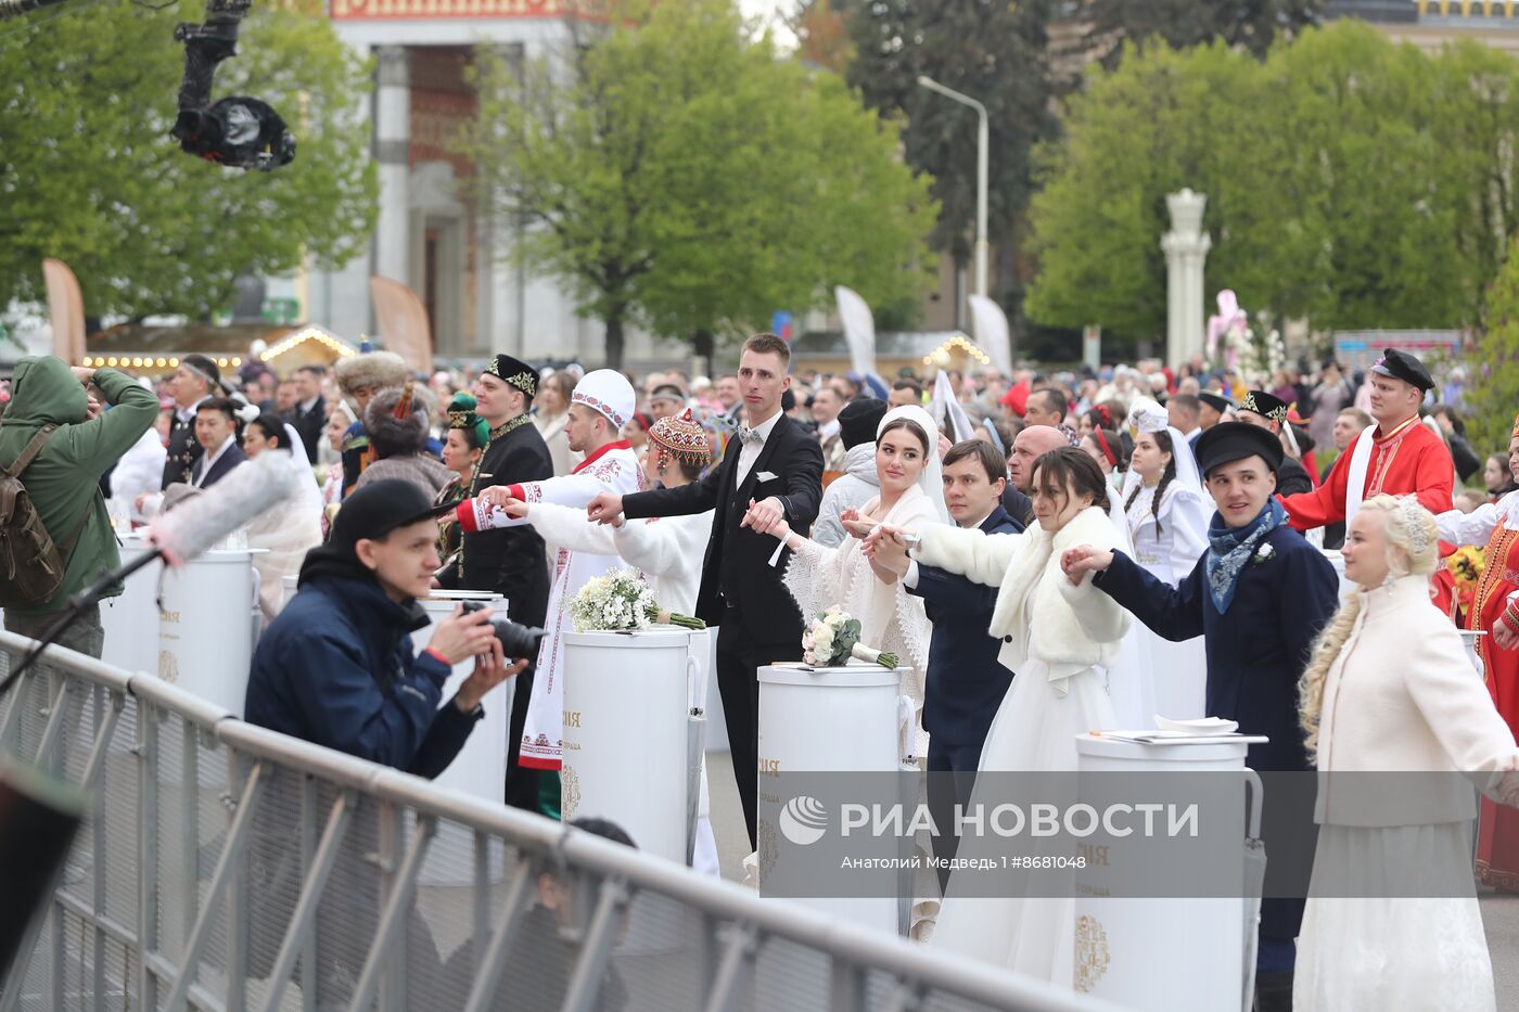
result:
M 1294 1012 L 1492 1012 L 1493 965 L 1475 886 L 1469 897 L 1367 895 L 1385 880 L 1382 869 L 1396 875 L 1463 859 L 1470 860 L 1470 837 L 1458 822 L 1320 827 L 1314 884 L 1335 875 L 1369 889 L 1353 898 L 1309 897 L 1297 936 Z

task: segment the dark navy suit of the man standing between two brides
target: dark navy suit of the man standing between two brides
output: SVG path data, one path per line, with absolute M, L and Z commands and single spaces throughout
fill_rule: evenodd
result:
M 1019 533 L 1024 527 L 998 506 L 980 529 Z M 1013 673 L 996 659 L 1003 638 L 986 632 L 996 588 L 936 565 L 919 565 L 917 587 L 907 593 L 924 599 L 924 611 L 934 623 L 924 684 L 924 731 L 946 745 L 984 743 L 1013 682 Z

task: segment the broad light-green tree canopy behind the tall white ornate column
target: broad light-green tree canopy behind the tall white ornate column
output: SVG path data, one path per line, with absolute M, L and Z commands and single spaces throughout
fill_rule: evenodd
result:
M 1341 21 L 1264 62 L 1217 41 L 1130 47 L 1116 70 L 1092 70 L 1065 137 L 1041 152 L 1030 316 L 1162 336 L 1157 243 L 1165 194 L 1185 185 L 1208 196 L 1209 293 L 1230 287 L 1318 330 L 1473 321 L 1490 274 L 1463 229 L 1501 144 L 1489 131 L 1467 153 L 1455 125 L 1473 117 L 1448 97 L 1446 59 Z

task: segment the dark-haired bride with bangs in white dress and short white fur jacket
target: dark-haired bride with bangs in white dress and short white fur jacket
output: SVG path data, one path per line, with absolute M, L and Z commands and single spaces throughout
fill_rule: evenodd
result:
M 998 659 L 1016 678 L 987 732 L 981 772 L 1075 770 L 1075 738 L 1115 726 L 1104 682 L 1129 612 L 1091 579 L 1072 585 L 1060 571 L 1069 547 L 1121 542 L 1103 473 L 1085 451 L 1062 447 L 1034 463 L 1033 488 L 1039 524 L 1025 533 L 934 526 L 917 532 L 913 550 L 922 564 L 1000 588 L 989 632 L 1003 637 Z M 869 542 L 872 553 L 904 544 L 892 529 Z M 978 778 L 971 807 L 996 804 L 986 793 L 996 789 L 995 778 Z M 933 945 L 1071 986 L 1072 898 L 972 898 L 958 895 L 955 883 L 952 875 Z

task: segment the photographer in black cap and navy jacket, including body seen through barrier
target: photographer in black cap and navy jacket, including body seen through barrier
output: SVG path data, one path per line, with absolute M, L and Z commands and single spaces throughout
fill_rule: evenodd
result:
M 412 632 L 428 621 L 416 599 L 437 568 L 434 517 L 451 508 L 433 506 L 399 479 L 372 482 L 343 500 L 328 542 L 305 556 L 299 593 L 258 640 L 245 700 L 249 723 L 418 776 L 437 776 L 454 761 L 485 716 L 480 700 L 527 659 L 507 664 L 491 614 L 462 606 L 415 652 Z M 469 658 L 474 672 L 444 704 L 444 682 Z M 301 883 L 301 833 L 292 822 L 302 804 L 299 776 L 266 769 L 266 778 L 249 842 L 249 971 L 260 977 L 273 968 Z M 352 819 L 333 872 L 342 889 L 328 889 L 316 912 L 316 965 L 307 969 L 319 1007 L 351 998 L 381 909 L 381 872 L 369 854 L 378 814 L 366 805 Z M 404 924 L 409 974 L 399 1004 L 427 1007 L 436 1003 L 442 963 L 415 904 Z

